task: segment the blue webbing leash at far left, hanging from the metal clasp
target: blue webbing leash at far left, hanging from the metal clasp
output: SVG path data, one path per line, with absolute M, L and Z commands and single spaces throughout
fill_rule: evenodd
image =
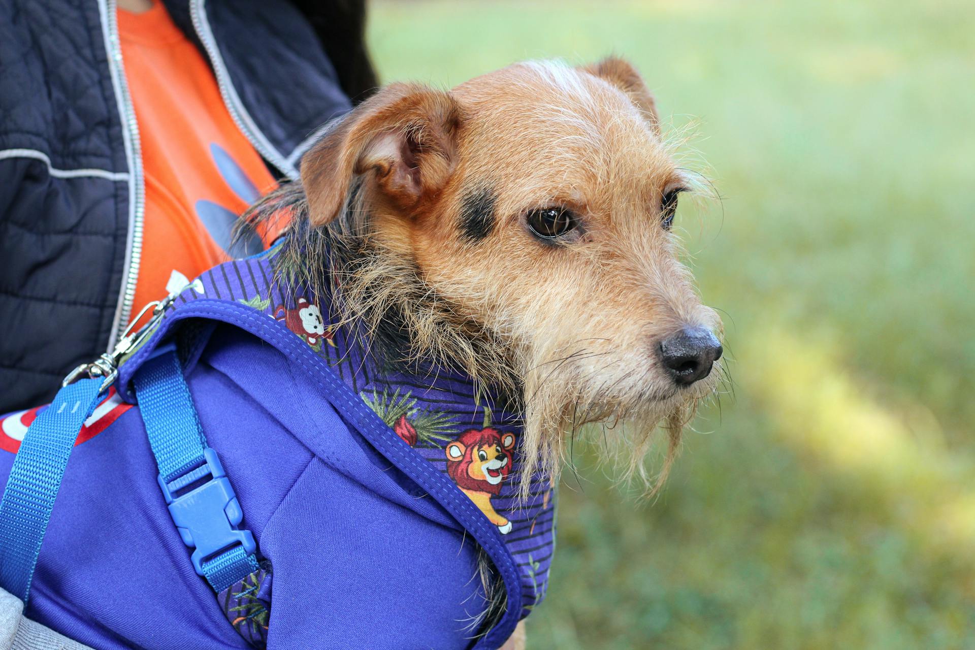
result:
M 27 429 L 0 501 L 0 587 L 30 595 L 30 581 L 74 441 L 98 403 L 103 377 L 62 388 Z

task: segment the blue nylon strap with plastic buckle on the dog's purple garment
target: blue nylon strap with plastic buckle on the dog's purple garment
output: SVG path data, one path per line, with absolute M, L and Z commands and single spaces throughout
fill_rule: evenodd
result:
M 207 446 L 175 346 L 161 346 L 134 384 L 170 515 L 183 542 L 195 549 L 196 572 L 220 593 L 257 570 L 256 545 L 250 531 L 237 528 L 243 512 Z

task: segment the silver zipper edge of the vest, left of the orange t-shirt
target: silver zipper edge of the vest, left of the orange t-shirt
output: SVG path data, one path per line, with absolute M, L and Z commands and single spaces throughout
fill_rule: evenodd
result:
M 122 62 L 122 45 L 119 42 L 118 19 L 115 0 L 98 0 L 101 30 L 108 55 L 108 70 L 118 103 L 122 122 L 122 139 L 125 144 L 126 162 L 129 165 L 129 235 L 126 241 L 125 274 L 119 289 L 115 318 L 108 338 L 108 350 L 115 347 L 129 325 L 133 302 L 136 299 L 138 267 L 142 258 L 142 222 L 145 217 L 145 179 L 142 177 L 142 153 L 138 139 L 136 111 L 129 95 L 129 84 Z

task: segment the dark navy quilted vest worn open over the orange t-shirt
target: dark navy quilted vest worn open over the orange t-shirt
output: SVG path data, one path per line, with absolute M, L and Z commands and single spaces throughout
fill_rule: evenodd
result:
M 286 2 L 166 6 L 234 123 L 276 173 L 296 177 L 312 134 L 350 107 L 312 25 Z M 113 8 L 0 1 L 0 410 L 50 400 L 136 306 L 148 188 Z M 237 210 L 243 186 L 227 181 L 192 200 Z

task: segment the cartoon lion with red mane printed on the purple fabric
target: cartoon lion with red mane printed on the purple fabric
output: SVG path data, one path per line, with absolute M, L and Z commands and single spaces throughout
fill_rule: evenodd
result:
M 514 448 L 515 435 L 493 427 L 468 429 L 445 447 L 448 475 L 502 535 L 511 532 L 512 524 L 497 514 L 490 498 L 501 492 L 501 483 L 511 472 Z

